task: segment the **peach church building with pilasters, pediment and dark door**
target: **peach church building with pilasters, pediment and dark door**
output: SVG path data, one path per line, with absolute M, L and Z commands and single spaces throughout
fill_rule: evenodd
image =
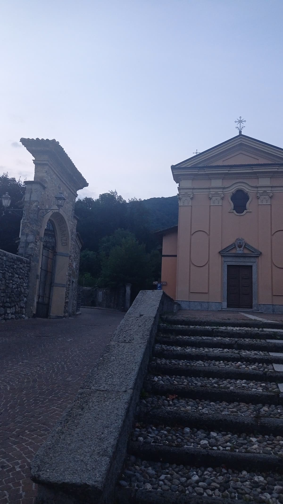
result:
M 243 135 L 171 166 L 178 225 L 161 231 L 182 308 L 283 313 L 283 149 Z

